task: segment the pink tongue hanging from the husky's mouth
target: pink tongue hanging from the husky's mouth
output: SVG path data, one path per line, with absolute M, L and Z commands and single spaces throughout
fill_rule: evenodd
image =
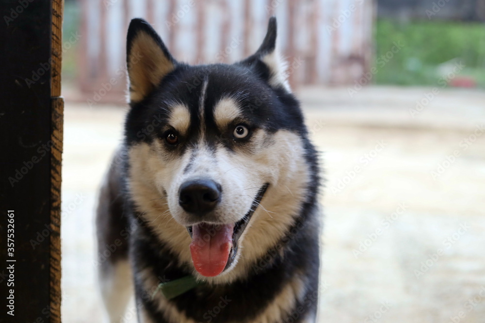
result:
M 217 276 L 226 268 L 232 247 L 234 225 L 200 223 L 192 227 L 190 252 L 194 267 L 200 275 Z

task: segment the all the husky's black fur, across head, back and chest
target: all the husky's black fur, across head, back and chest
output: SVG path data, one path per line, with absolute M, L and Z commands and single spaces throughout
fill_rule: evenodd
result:
M 298 300 L 294 308 L 288 309 L 287 318 L 282 322 L 303 322 L 305 315 L 315 313 L 318 303 L 319 283 L 319 219 L 317 218 L 317 196 L 319 192 L 319 168 L 317 154 L 307 138 L 303 114 L 297 99 L 283 86 L 271 86 L 268 81 L 271 72 L 261 58 L 275 50 L 276 19 L 272 17 L 268 32 L 258 51 L 248 59 L 234 65 L 190 66 L 177 63 L 163 44 L 157 33 L 142 19 L 133 19 L 128 32 L 127 53 L 131 42 L 138 32 L 147 32 L 162 48 L 163 53 L 174 62 L 175 69 L 166 75 L 159 86 L 140 102 L 131 102 L 125 123 L 125 143 L 123 151 L 139 142 L 150 143 L 162 138 L 167 130 L 168 109 L 173 98 L 190 108 L 191 129 L 185 136 L 185 142 L 173 148 L 164 158 L 177 158 L 191 145 L 201 131 L 199 129 L 198 109 L 203 81 L 208 81 L 207 97 L 204 102 L 206 116 L 206 138 L 210 146 L 223 144 L 229 150 L 234 149 L 230 133 L 222 133 L 215 126 L 212 108 L 223 97 L 235 97 L 245 107 L 244 123 L 254 129 L 276 132 L 288 129 L 298 133 L 303 139 L 306 155 L 302 156 L 311 170 L 311 183 L 307 187 L 307 198 L 301 206 L 297 221 L 284 238 L 267 254 L 257 259 L 244 279 L 227 285 L 202 285 L 171 300 L 181 313 L 196 322 L 252 322 L 284 288 L 295 275 L 305 277 L 307 292 Z M 148 127 L 153 120 L 162 125 L 159 128 Z M 250 149 L 250 148 L 248 148 Z M 119 238 L 123 227 L 129 230 L 129 258 L 135 274 L 135 292 L 137 303 L 144 307 L 155 322 L 167 322 L 163 313 L 157 309 L 149 291 L 143 288 L 143 282 L 137 273 L 148 269 L 154 277 L 170 281 L 192 274 L 190 264 L 180 263 L 177 256 L 152 231 L 143 217 L 134 212 L 130 192 L 123 189 L 121 183 L 126 179 L 129 164 L 126 158 L 113 166 L 108 185 L 98 208 L 99 252 L 105 243 Z M 114 183 L 114 184 L 113 184 Z M 122 201 L 128 201 L 123 205 Z M 104 219 L 108 217 L 109 219 Z M 128 223 L 129 219 L 130 223 Z M 107 237 L 107 238 L 106 238 Z M 117 256 L 109 258 L 115 263 L 128 256 L 127 248 L 116 251 Z M 230 300 L 216 316 L 209 311 L 217 307 L 222 299 Z M 167 322 L 168 323 L 168 322 Z

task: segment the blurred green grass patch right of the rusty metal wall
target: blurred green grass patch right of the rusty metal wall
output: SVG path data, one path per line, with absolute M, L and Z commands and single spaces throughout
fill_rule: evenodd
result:
M 440 78 L 438 66 L 450 60 L 462 61 L 460 76 L 473 77 L 485 87 L 485 25 L 449 21 L 378 20 L 376 59 L 394 42 L 404 47 L 379 68 L 378 84 L 434 85 Z

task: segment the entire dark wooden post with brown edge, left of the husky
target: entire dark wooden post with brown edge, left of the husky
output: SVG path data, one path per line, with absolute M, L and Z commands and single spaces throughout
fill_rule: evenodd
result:
M 0 0 L 0 322 L 61 322 L 63 0 Z

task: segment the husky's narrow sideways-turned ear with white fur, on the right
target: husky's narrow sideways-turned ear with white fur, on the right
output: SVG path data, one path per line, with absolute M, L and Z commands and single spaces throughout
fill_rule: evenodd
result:
M 286 74 L 287 63 L 276 48 L 276 32 L 276 17 L 273 16 L 269 20 L 268 31 L 261 46 L 259 46 L 256 53 L 241 63 L 251 66 L 271 86 L 282 86 L 290 92 Z

